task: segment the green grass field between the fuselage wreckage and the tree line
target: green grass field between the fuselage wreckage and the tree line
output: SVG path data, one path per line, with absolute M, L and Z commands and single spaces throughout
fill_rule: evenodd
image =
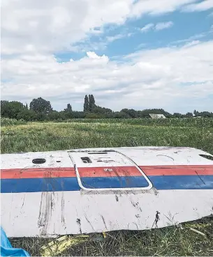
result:
M 213 153 L 213 130 L 76 121 L 1 127 L 2 153 L 122 146 L 190 146 Z

